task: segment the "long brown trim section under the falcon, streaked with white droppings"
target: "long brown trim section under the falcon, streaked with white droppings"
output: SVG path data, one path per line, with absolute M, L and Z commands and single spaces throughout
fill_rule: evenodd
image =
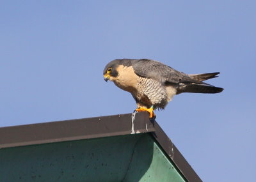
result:
M 120 114 L 0 128 L 0 149 L 154 132 L 147 113 Z M 135 117 L 134 117 L 135 116 Z

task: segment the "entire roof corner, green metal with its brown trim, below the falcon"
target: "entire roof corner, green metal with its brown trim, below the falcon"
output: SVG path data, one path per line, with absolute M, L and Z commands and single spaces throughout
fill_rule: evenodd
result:
M 0 128 L 0 181 L 201 181 L 147 113 Z

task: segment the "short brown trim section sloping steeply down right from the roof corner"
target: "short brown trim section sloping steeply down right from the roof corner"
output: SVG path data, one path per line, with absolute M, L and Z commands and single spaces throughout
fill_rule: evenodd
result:
M 172 159 L 182 175 L 188 181 L 202 181 L 157 122 L 154 123 L 154 128 L 155 132 L 152 132 L 152 136 L 157 140 L 166 155 Z

